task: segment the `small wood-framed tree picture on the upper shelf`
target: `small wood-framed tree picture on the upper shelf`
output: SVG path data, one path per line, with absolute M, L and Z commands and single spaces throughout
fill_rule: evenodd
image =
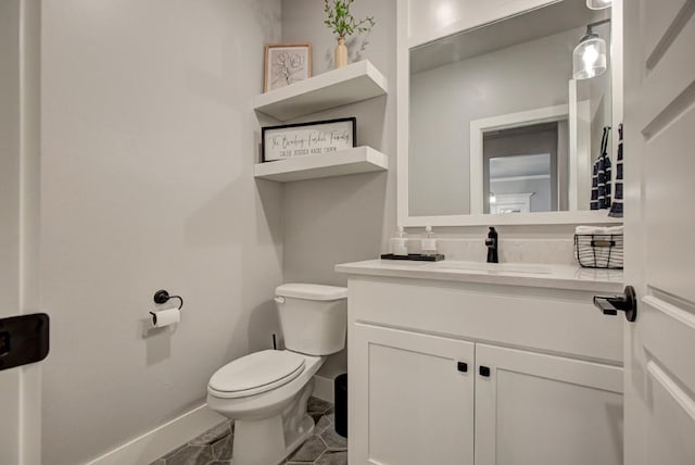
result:
M 263 91 L 279 89 L 312 77 L 312 43 L 266 43 Z

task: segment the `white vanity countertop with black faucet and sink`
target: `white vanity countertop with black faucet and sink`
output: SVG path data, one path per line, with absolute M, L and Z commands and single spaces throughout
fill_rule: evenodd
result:
M 621 292 L 620 269 L 593 269 L 572 265 L 525 263 L 478 263 L 454 260 L 415 262 L 367 260 L 336 265 L 336 272 L 349 275 L 434 279 L 504 286 Z

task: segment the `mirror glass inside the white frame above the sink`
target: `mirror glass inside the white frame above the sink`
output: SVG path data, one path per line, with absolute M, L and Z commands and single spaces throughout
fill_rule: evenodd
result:
M 574 80 L 572 51 L 609 14 L 565 0 L 410 49 L 410 217 L 589 210 L 611 66 Z

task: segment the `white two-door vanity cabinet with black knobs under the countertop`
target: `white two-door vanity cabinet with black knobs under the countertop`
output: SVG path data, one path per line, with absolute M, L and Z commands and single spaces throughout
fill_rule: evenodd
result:
M 337 267 L 351 274 L 351 465 L 622 464 L 622 323 L 592 304 L 620 285 L 396 267 Z

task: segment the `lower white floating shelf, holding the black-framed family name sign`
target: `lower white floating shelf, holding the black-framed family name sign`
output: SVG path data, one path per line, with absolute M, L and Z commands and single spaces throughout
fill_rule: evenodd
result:
M 291 156 L 275 162 L 256 163 L 255 177 L 278 183 L 386 171 L 387 155 L 370 147 L 355 147 L 326 155 Z

